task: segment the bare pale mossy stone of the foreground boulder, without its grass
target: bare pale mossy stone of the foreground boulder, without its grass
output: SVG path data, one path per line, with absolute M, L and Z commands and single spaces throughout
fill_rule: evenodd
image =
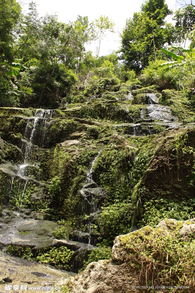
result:
M 135 240 L 140 243 L 144 240 L 153 241 L 155 238 L 189 236 L 195 231 L 195 218 L 187 221 L 177 221 L 175 219 L 164 219 L 156 228 L 145 226 L 127 235 L 117 236 L 112 248 L 111 260 L 99 260 L 90 263 L 87 268 L 71 278 L 71 293 L 114 293 L 142 292 L 136 286 L 140 286 L 140 269 L 138 264 L 128 261 L 129 247 L 135 245 Z M 137 242 L 137 243 L 139 243 Z M 145 280 L 142 282 L 144 285 Z M 159 285 L 159 284 L 157 284 Z M 158 289 L 158 293 L 166 292 Z

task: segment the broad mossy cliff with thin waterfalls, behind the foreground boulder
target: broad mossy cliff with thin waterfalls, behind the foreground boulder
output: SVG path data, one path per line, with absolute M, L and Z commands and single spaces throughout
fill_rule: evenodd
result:
M 117 235 L 194 217 L 193 114 L 172 107 L 185 93 L 136 82 L 0 109 L 2 250 L 78 272 Z

